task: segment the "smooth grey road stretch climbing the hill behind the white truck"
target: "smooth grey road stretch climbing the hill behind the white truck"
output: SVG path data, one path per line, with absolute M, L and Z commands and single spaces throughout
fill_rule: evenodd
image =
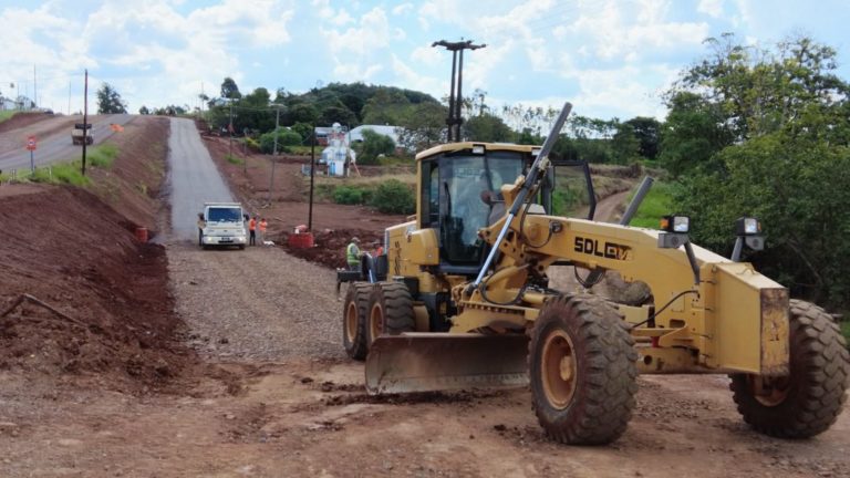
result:
M 191 119 L 172 118 L 168 138 L 172 239 L 196 240 L 204 202 L 234 200 Z

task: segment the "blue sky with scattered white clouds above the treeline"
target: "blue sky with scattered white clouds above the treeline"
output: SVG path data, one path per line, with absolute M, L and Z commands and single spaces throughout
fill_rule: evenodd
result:
M 850 80 L 850 3 L 839 0 L 0 0 L 0 94 L 33 93 L 68 112 L 102 82 L 132 112 L 198 105 L 225 76 L 242 92 L 300 93 L 362 81 L 445 96 L 450 53 L 436 40 L 471 39 L 464 92 L 487 104 L 560 107 L 593 117 L 656 116 L 660 94 L 734 32 L 771 45 L 807 34 L 839 52 Z M 70 92 L 69 92 L 70 90 Z

